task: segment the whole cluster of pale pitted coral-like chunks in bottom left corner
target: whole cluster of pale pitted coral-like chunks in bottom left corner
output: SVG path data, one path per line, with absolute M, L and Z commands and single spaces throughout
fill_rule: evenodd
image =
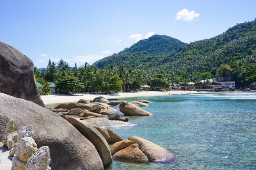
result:
M 51 170 L 49 147 L 37 147 L 33 127 L 23 127 L 18 133 L 14 130 L 14 120 L 11 119 L 6 126 L 3 143 L 10 149 L 12 170 Z

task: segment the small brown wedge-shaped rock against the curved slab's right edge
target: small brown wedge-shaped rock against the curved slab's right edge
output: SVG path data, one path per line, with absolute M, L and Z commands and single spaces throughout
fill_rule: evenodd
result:
M 99 131 L 99 133 L 102 134 L 102 136 L 106 139 L 108 143 L 115 143 L 115 142 L 124 140 L 124 138 L 122 138 L 117 133 L 114 133 L 112 130 L 109 130 L 104 127 L 97 127 L 97 126 L 94 126 L 94 127 Z

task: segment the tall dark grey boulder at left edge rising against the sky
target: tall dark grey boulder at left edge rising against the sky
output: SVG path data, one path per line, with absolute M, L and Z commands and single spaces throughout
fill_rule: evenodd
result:
M 32 60 L 3 42 L 0 42 L 0 92 L 44 107 L 35 82 Z

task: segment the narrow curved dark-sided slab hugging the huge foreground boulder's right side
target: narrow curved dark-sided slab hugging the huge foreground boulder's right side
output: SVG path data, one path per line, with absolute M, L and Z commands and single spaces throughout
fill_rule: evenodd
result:
M 76 129 L 94 145 L 102 159 L 104 166 L 112 163 L 112 157 L 108 143 L 95 127 L 85 121 L 81 121 L 70 116 L 61 115 L 61 117 L 76 127 Z

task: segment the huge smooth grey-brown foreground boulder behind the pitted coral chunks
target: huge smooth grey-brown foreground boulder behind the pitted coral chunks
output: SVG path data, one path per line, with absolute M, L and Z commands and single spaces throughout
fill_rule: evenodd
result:
M 49 147 L 52 169 L 103 170 L 93 144 L 69 122 L 31 101 L 0 93 L 0 141 L 11 119 L 15 121 L 16 131 L 26 125 L 33 126 L 38 148 Z

